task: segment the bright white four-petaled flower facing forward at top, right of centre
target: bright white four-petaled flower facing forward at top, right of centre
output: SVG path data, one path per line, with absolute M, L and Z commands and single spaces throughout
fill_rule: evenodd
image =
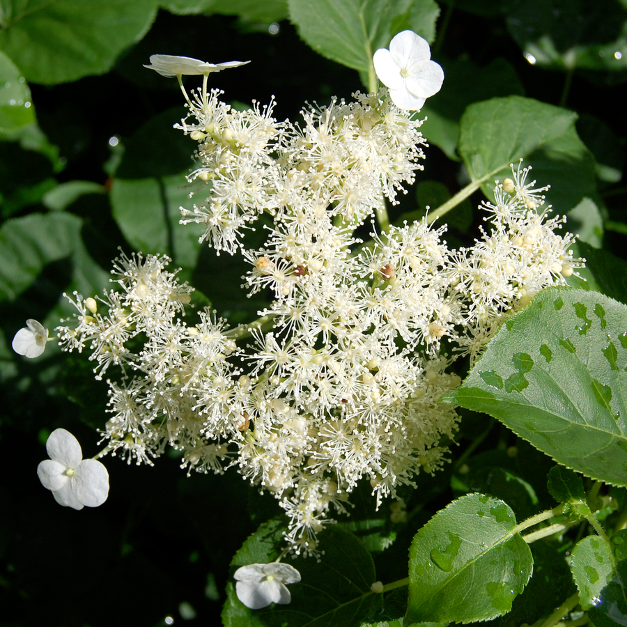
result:
M 379 48 L 373 63 L 392 102 L 401 109 L 419 111 L 426 98 L 440 91 L 444 80 L 440 65 L 431 61 L 428 42 L 413 31 L 398 33 L 389 50 Z

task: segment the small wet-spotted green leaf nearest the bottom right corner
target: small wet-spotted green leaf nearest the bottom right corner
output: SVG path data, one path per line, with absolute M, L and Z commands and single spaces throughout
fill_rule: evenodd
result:
M 598 536 L 587 536 L 575 545 L 571 553 L 571 572 L 583 610 L 598 603 L 601 590 L 612 578 L 613 569 L 610 549 Z

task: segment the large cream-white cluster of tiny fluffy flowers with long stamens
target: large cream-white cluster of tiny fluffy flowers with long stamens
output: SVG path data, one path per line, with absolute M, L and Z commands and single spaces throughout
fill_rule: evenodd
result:
M 89 346 L 98 377 L 130 366 L 109 381 L 109 450 L 140 463 L 169 444 L 189 469 L 236 466 L 279 499 L 292 550 L 314 552 L 359 481 L 380 502 L 442 465 L 458 421 L 439 401 L 460 382 L 447 373 L 454 356 L 477 356 L 504 317 L 581 264 L 520 167 L 497 186 L 473 247 L 449 250 L 445 228 L 426 221 L 361 245 L 355 229 L 420 168 L 420 122 L 385 92 L 309 108 L 302 125 L 277 123 L 272 105 L 235 111 L 219 94 L 203 86 L 187 98 L 193 120 L 180 128 L 198 142 L 189 178 L 201 200 L 183 222 L 233 253 L 242 229 L 272 217 L 263 248 L 243 251 L 249 291 L 272 293 L 260 312 L 272 330 L 227 331 L 209 311 L 186 325 L 191 288 L 169 260 L 123 256 L 118 288 L 100 304 L 77 296 L 75 326 L 59 338 L 66 350 Z M 269 595 L 281 602 L 285 591 Z

